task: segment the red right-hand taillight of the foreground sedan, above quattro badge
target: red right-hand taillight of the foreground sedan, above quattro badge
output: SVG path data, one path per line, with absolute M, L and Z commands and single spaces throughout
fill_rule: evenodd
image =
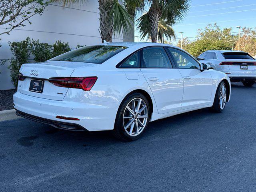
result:
M 53 77 L 49 82 L 58 87 L 68 87 L 90 91 L 97 77 Z

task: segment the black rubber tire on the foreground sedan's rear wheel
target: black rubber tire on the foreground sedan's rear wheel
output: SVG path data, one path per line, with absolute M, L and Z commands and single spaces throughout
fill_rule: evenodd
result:
M 138 98 L 142 99 L 144 101 L 144 104 L 146 104 L 146 107 L 147 107 L 147 116 L 148 118 L 147 119 L 143 119 L 143 122 L 146 124 L 143 127 L 140 127 L 142 128 L 141 132 L 139 132 L 138 135 L 135 135 L 134 136 L 131 136 L 129 135 L 127 132 L 128 132 L 128 129 L 132 129 L 131 127 L 126 129 L 124 128 L 124 122 L 123 122 L 123 116 L 125 116 L 125 113 L 127 113 L 127 109 L 126 109 L 126 106 L 128 104 L 130 104 L 130 102 L 132 102 L 132 100 L 134 99 L 135 102 L 136 100 L 138 100 Z M 138 102 L 137 102 L 138 104 Z M 135 106 L 137 105 L 135 104 Z M 130 112 L 129 112 L 130 113 Z M 131 115 L 131 114 L 129 114 Z M 133 116 L 133 115 L 132 115 Z M 139 115 L 138 115 L 139 116 Z M 113 135 L 120 139 L 120 140 L 124 140 L 124 141 L 133 141 L 133 140 L 137 140 L 138 138 L 140 138 L 140 136 L 142 136 L 142 134 L 145 132 L 147 126 L 148 126 L 148 122 L 150 120 L 150 117 L 151 117 L 151 109 L 150 109 L 150 104 L 148 103 L 148 100 L 147 98 L 143 95 L 143 94 L 140 94 L 140 93 L 132 93 L 128 96 L 126 96 L 126 98 L 124 98 L 124 100 L 122 101 L 122 103 L 120 104 L 120 107 L 118 109 L 118 112 L 116 114 L 116 121 L 115 121 L 115 125 L 114 125 L 114 130 L 112 130 L 112 133 Z M 135 116 L 133 116 L 133 118 L 129 119 L 129 122 L 132 121 L 132 119 L 135 119 Z M 138 118 L 139 119 L 139 118 Z M 125 121 L 125 119 L 124 119 Z M 129 123 L 128 122 L 128 123 Z M 136 121 L 135 121 L 136 122 Z M 136 129 L 136 124 L 134 125 L 135 129 Z M 130 132 L 129 130 L 129 132 Z M 138 130 L 138 129 L 136 129 Z M 126 132 L 127 131 L 127 132 Z

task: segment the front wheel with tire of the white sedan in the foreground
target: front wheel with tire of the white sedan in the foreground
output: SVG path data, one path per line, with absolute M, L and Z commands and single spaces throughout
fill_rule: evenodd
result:
M 226 84 L 222 81 L 216 90 L 214 103 L 211 109 L 214 112 L 221 113 L 226 106 L 226 99 L 227 99 Z

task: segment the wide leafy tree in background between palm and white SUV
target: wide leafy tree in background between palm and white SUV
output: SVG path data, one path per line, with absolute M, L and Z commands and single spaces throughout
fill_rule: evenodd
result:
M 183 39 L 183 49 L 197 57 L 206 50 L 232 50 L 236 45 L 236 36 L 231 34 L 232 28 L 220 29 L 217 24 L 206 26 L 204 30 L 198 30 L 195 41 Z M 180 41 L 178 42 L 180 46 Z

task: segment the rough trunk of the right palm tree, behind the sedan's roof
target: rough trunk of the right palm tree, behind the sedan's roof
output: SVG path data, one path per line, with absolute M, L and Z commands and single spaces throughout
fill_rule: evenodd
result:
M 148 16 L 150 20 L 150 36 L 152 43 L 157 42 L 157 31 L 158 31 L 158 22 L 160 18 L 162 17 L 162 8 L 160 6 L 157 6 L 156 4 L 151 5 Z

